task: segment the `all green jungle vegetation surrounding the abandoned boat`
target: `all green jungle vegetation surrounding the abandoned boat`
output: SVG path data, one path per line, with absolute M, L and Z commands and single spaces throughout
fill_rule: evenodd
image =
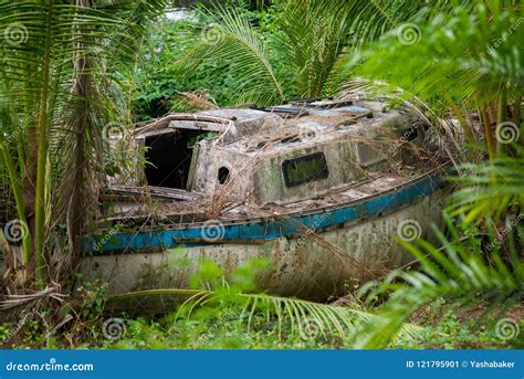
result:
M 21 261 L 7 260 L 0 286 L 2 344 L 524 346 L 520 1 L 229 0 L 181 18 L 171 6 L 0 0 L 0 221 L 18 220 L 10 227 L 23 246 Z M 316 304 L 258 293 L 253 275 L 264 263 L 226 281 L 203 262 L 195 287 L 180 288 L 189 302 L 160 318 L 126 318 L 118 340 L 101 333 L 103 285 L 76 288 L 74 301 L 62 296 L 72 291 L 106 176 L 134 164 L 108 154 L 114 125 L 343 93 L 412 104 L 453 151 L 439 245 L 399 241 L 417 264 Z M 39 316 L 18 328 L 35 302 Z

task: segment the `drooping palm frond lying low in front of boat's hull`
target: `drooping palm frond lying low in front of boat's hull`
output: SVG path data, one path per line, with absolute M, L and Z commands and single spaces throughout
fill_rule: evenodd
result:
M 268 294 L 239 293 L 227 283 L 216 291 L 198 288 L 140 291 L 114 296 L 108 303 L 127 302 L 144 296 L 186 298 L 171 322 L 191 318 L 201 308 L 212 310 L 232 307 L 238 309 L 238 318 L 245 324 L 248 331 L 252 328 L 253 319 L 263 316 L 276 324 L 279 336 L 282 336 L 285 325 L 290 327 L 286 330 L 296 336 L 307 336 L 311 329 L 315 329 L 317 337 L 340 338 L 346 345 L 353 345 L 354 337 L 363 329 L 371 326 L 381 328 L 387 325 L 386 318 L 366 310 Z M 420 330 L 415 325 L 406 324 L 399 327 L 397 335 L 402 338 L 415 338 Z

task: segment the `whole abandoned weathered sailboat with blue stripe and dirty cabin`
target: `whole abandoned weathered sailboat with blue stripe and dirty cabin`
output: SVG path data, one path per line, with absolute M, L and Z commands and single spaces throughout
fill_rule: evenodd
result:
M 148 164 L 105 191 L 83 280 L 107 283 L 109 295 L 185 288 L 201 259 L 231 272 L 262 257 L 260 288 L 326 299 L 382 275 L 412 260 L 399 238 L 431 240 L 440 223 L 442 161 L 428 127 L 375 101 L 222 108 L 137 127 L 126 151 Z

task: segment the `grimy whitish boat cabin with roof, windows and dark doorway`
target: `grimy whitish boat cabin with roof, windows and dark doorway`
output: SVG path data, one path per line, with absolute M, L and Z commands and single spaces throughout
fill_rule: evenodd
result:
M 136 129 L 147 186 L 179 201 L 286 204 L 366 181 L 417 143 L 415 116 L 368 101 L 312 101 L 256 109 L 170 115 Z M 130 186 L 129 186 L 130 185 Z

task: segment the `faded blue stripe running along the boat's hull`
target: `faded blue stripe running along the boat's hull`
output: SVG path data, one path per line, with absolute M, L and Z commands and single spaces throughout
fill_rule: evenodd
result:
M 293 236 L 307 229 L 323 229 L 344 224 L 348 221 L 378 215 L 389 209 L 404 206 L 419 197 L 433 193 L 440 186 L 438 176 L 423 178 L 394 192 L 387 192 L 369 200 L 363 200 L 353 206 L 340 206 L 339 209 L 324 210 L 322 212 L 293 217 L 287 220 L 263 220 L 241 224 L 224 224 L 220 230 L 220 239 L 213 243 L 231 240 L 272 240 L 282 236 Z M 201 225 L 181 230 L 166 230 L 158 232 L 142 233 L 115 233 L 111 241 L 105 243 L 103 252 L 117 252 L 126 249 L 169 249 L 177 245 L 187 245 L 180 241 L 205 240 L 205 228 Z M 178 242 L 177 242 L 178 241 Z M 203 243 L 203 245 L 210 243 Z M 95 239 L 88 239 L 85 243 L 86 250 L 95 250 Z M 96 253 L 96 252 L 94 252 Z

